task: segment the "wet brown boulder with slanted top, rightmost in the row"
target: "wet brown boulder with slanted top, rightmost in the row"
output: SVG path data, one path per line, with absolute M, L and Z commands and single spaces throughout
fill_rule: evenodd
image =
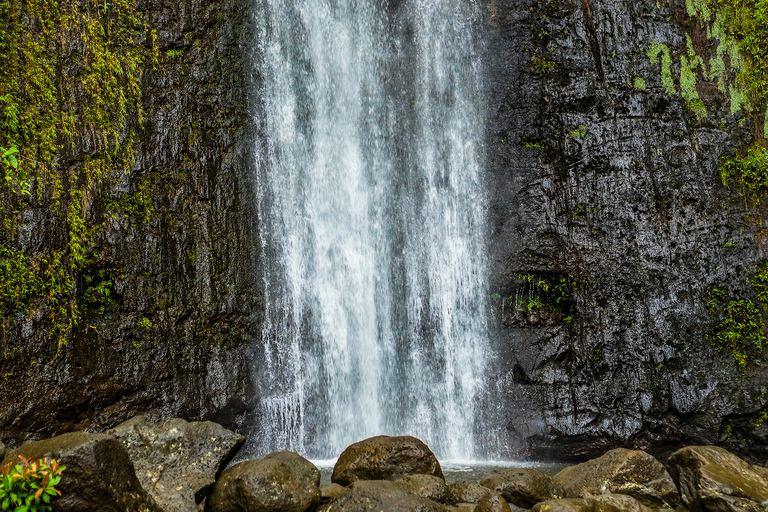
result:
M 768 471 L 717 446 L 689 446 L 667 461 L 683 503 L 706 512 L 765 512 Z

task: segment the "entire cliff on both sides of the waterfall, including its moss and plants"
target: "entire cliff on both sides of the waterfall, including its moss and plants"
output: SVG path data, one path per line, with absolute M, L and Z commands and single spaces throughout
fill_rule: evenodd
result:
M 244 425 L 258 12 L 64 3 L 0 5 L 0 439 Z M 535 456 L 766 455 L 765 2 L 482 3 L 489 424 Z

